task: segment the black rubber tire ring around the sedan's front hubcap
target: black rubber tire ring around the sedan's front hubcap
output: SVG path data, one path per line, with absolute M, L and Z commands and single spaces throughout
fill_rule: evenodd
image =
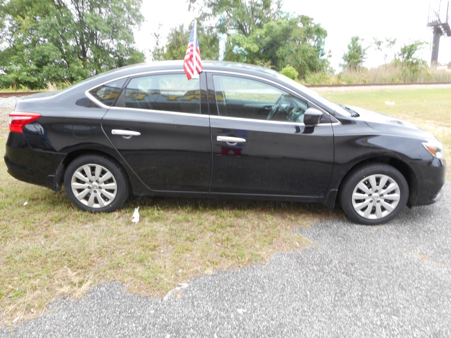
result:
M 357 184 L 359 184 L 360 181 L 362 181 L 364 178 L 367 178 L 368 176 L 380 174 L 389 176 L 389 178 L 391 178 L 392 180 L 395 181 L 396 184 L 398 184 L 400 192 L 399 201 L 394 210 L 389 212 L 389 214 L 386 215 L 385 217 L 378 219 L 368 219 L 363 217 L 362 215 L 359 215 L 358 212 L 354 209 L 352 195 L 354 193 L 354 188 L 356 188 Z M 367 198 L 369 199 L 369 197 Z M 393 168 L 391 165 L 388 164 L 366 164 L 359 168 L 354 169 L 343 181 L 339 196 L 341 209 L 343 209 L 345 214 L 355 223 L 367 225 L 382 224 L 390 221 L 391 219 L 394 219 L 396 215 L 398 215 L 400 211 L 404 209 L 408 198 L 409 198 L 409 185 L 407 184 L 405 177 L 403 176 L 403 174 L 400 173 L 399 170 Z M 376 201 L 374 201 L 374 203 L 375 202 Z M 375 209 L 372 209 L 371 212 L 374 212 L 374 210 Z M 389 209 L 387 207 L 387 212 L 388 210 Z

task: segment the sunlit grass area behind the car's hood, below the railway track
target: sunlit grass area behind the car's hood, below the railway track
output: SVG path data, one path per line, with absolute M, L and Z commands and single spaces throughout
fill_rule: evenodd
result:
M 317 91 L 334 102 L 360 106 L 414 123 L 432 132 L 443 143 L 446 159 L 451 156 L 451 88 Z M 386 105 L 385 101 L 395 102 L 395 105 Z M 446 178 L 451 179 L 449 169 Z

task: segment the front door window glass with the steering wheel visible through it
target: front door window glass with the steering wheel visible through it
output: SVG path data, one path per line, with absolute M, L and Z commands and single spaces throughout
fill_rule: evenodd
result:
M 307 102 L 265 82 L 213 75 L 220 116 L 303 122 Z

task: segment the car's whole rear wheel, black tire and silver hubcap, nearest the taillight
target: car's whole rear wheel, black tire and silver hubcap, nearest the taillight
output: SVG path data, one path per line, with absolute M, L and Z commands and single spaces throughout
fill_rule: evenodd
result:
M 74 159 L 64 174 L 64 189 L 81 210 L 110 212 L 122 206 L 129 196 L 124 170 L 101 155 L 83 155 Z

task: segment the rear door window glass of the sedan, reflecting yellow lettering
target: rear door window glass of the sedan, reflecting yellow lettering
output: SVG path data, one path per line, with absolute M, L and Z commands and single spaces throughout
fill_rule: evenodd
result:
M 200 114 L 199 79 L 183 74 L 154 74 L 132 78 L 120 105 L 127 108 Z

